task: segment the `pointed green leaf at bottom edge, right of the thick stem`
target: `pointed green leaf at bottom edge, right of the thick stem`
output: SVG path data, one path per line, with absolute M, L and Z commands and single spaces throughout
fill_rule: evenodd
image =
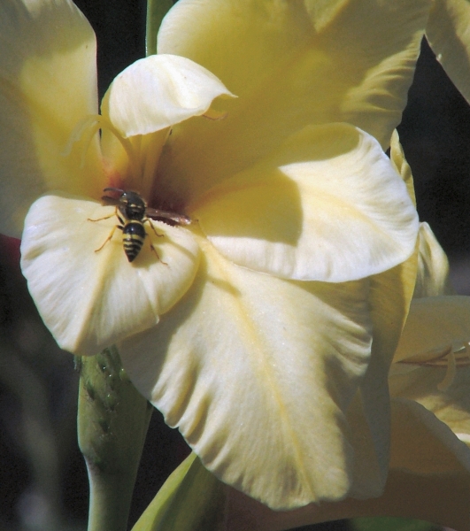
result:
M 166 480 L 132 531 L 207 531 L 223 519 L 225 487 L 192 453 Z

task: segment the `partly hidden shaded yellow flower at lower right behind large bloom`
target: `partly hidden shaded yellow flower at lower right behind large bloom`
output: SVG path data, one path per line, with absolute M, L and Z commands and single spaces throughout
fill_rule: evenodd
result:
M 404 178 L 411 177 L 398 148 L 396 136 L 392 158 Z M 422 223 L 414 298 L 389 373 L 390 462 L 381 496 L 275 512 L 204 478 L 212 498 L 224 496 L 219 510 L 225 512 L 226 531 L 282 531 L 364 516 L 470 529 L 470 297 L 451 295 L 448 273 L 443 249 Z M 193 474 L 198 466 L 192 465 Z M 189 489 L 189 502 L 190 494 Z M 162 505 L 158 518 L 165 521 L 166 512 L 172 511 L 184 513 L 184 504 L 171 509 Z

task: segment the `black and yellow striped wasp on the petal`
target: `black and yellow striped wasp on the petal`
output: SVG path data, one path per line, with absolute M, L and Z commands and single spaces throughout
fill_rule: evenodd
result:
M 149 208 L 143 200 L 143 197 L 137 192 L 116 188 L 105 188 L 103 191 L 112 192 L 118 195 L 114 197 L 103 196 L 101 198 L 104 204 L 115 205 L 116 212 L 110 216 L 105 216 L 104 218 L 99 219 L 89 219 L 89 221 L 109 219 L 116 215 L 116 217 L 119 219 L 120 225 L 115 225 L 112 227 L 110 235 L 106 238 L 106 240 L 104 240 L 103 245 L 96 249 L 95 252 L 102 250 L 104 245 L 106 245 L 106 243 L 112 239 L 112 235 L 114 235 L 116 228 L 119 228 L 119 230 L 122 231 L 122 245 L 124 247 L 127 260 L 129 262 L 133 262 L 139 255 L 139 252 L 142 250 L 143 242 L 145 240 L 145 236 L 147 235 L 144 223 L 149 223 L 155 235 L 158 237 L 163 237 L 163 235 L 159 235 L 155 230 L 150 222 L 150 218 L 163 220 L 173 225 L 189 225 L 191 223 L 191 219 L 184 214 Z M 160 257 L 158 257 L 157 250 L 155 250 L 151 244 L 150 249 L 153 250 L 153 252 L 155 252 L 157 255 L 157 258 L 160 259 Z

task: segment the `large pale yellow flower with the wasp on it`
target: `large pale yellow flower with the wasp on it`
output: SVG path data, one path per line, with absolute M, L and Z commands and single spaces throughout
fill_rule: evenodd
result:
M 382 148 L 429 7 L 403 4 L 180 0 L 101 116 L 72 2 L 0 6 L 1 227 L 26 216 L 42 319 L 78 354 L 117 342 L 204 465 L 274 509 L 386 481 L 418 221 Z M 107 187 L 192 223 L 145 220 L 131 264 Z

